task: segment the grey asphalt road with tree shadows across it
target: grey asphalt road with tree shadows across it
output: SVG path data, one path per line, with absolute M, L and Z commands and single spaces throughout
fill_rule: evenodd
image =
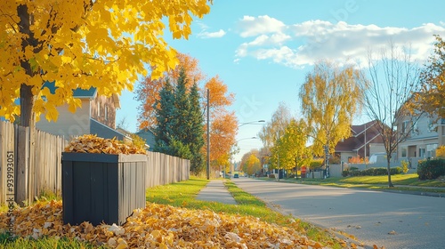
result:
M 445 248 L 445 198 L 244 177 L 232 181 L 281 213 L 343 231 L 367 247 Z

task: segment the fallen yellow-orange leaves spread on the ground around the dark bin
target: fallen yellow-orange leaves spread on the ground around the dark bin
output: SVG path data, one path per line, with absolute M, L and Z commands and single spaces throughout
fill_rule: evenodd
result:
M 323 248 L 296 229 L 255 217 L 190 210 L 147 203 L 134 210 L 123 226 L 83 222 L 63 225 L 61 201 L 17 208 L 14 233 L 19 237 L 69 237 L 113 248 Z M 10 217 L 0 213 L 0 228 Z

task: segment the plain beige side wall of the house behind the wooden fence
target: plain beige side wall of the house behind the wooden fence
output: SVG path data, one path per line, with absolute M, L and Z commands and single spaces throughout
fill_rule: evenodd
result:
M 46 133 L 63 136 L 69 140 L 72 136 L 90 133 L 90 100 L 82 99 L 82 108 L 75 113 L 68 109 L 68 105 L 58 107 L 59 118 L 57 122 L 48 122 L 44 115 L 36 123 L 36 128 Z

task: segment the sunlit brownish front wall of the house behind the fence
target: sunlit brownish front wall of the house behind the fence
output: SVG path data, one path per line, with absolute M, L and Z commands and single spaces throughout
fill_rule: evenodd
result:
M 91 103 L 91 117 L 110 128 L 116 128 L 116 107 L 111 97 L 96 96 Z

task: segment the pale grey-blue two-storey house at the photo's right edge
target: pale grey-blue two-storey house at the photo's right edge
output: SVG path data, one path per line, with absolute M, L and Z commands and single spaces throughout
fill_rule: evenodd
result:
M 413 167 L 420 159 L 435 157 L 435 150 L 445 144 L 445 118 L 428 114 L 417 117 L 403 116 L 397 125 L 398 131 L 407 134 L 407 139 L 399 144 L 397 156 Z

